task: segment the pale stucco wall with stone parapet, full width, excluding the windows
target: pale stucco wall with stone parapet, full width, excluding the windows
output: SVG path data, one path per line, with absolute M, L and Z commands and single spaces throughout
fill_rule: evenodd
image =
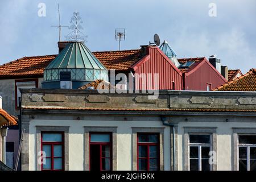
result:
M 216 130 L 218 170 L 234 169 L 233 128 L 256 129 L 254 92 L 159 92 L 156 100 L 148 94 L 100 94 L 97 90 L 22 90 L 23 120 L 26 128 L 22 148 L 23 169 L 36 169 L 36 127 L 69 127 L 69 169 L 85 169 L 84 127 L 117 127 L 117 169 L 133 168 L 133 127 L 164 128 L 164 169 L 171 169 L 170 127 L 176 127 L 177 169 L 185 169 L 186 128 Z M 65 109 L 65 110 L 63 110 Z M 215 135 L 215 134 L 214 134 Z

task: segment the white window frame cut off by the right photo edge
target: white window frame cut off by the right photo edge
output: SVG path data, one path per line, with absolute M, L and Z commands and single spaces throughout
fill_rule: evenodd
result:
M 239 143 L 239 136 L 251 136 L 253 134 L 238 134 L 238 137 L 237 137 L 237 169 L 239 171 L 239 147 L 246 147 L 246 163 L 247 163 L 247 166 L 246 166 L 246 169 L 247 171 L 250 171 L 250 147 L 255 147 L 256 148 L 256 144 L 250 144 L 250 143 Z M 254 134 L 254 136 L 256 137 L 256 135 Z M 245 159 L 242 159 L 242 160 L 245 160 Z M 256 159 L 255 159 L 256 160 Z

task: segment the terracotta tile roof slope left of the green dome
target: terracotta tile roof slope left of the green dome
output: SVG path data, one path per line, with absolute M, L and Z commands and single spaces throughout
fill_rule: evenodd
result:
M 43 76 L 44 68 L 56 55 L 23 57 L 0 66 L 0 78 Z

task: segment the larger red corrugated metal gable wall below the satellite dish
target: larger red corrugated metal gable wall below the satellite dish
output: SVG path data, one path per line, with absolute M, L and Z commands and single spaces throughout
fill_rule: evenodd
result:
M 171 60 L 168 59 L 166 55 L 158 47 L 147 47 L 148 48 L 148 57 L 145 60 L 142 60 L 142 63 L 139 63 L 134 67 L 135 73 L 139 76 L 135 76 L 135 89 L 137 90 L 151 90 L 151 89 L 160 89 L 160 90 L 181 90 L 182 89 L 182 74 L 172 64 Z M 150 83 L 143 85 L 142 73 L 146 73 L 146 82 Z M 148 76 L 148 73 L 151 73 Z M 159 77 L 158 88 L 155 86 L 157 79 L 157 74 Z M 175 88 L 173 88 L 175 87 Z

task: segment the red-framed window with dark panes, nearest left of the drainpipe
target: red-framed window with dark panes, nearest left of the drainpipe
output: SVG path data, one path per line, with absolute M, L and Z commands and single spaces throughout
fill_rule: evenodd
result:
M 138 133 L 137 150 L 139 171 L 159 170 L 159 134 Z

